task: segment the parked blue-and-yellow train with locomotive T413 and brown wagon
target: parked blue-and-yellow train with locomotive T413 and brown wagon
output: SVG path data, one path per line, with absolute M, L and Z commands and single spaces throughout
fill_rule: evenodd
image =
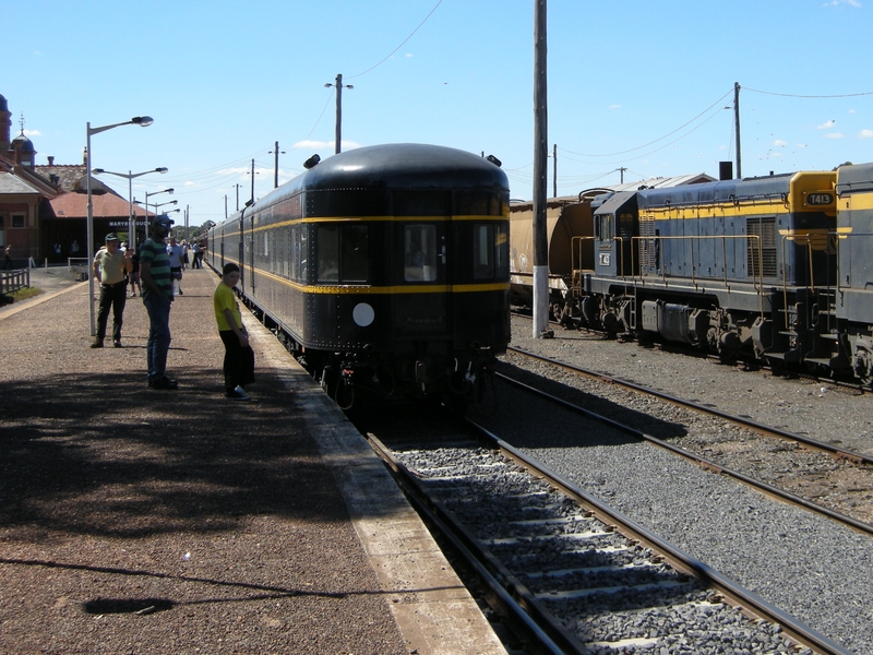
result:
M 554 202 L 549 226 L 564 323 L 873 383 L 873 164 L 599 190 Z

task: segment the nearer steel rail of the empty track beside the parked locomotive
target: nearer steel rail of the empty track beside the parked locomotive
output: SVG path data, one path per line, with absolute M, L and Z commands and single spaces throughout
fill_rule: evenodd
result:
M 702 456 L 699 456 L 699 455 L 697 455 L 695 453 L 692 453 L 691 451 L 686 451 L 685 449 L 679 448 L 678 445 L 673 445 L 672 443 L 669 443 L 667 441 L 658 439 L 657 437 L 653 437 L 651 434 L 647 434 L 646 432 L 643 432 L 642 430 L 637 430 L 636 428 L 632 428 L 630 426 L 625 426 L 625 425 L 623 425 L 623 424 L 621 424 L 621 422 L 619 422 L 619 421 L 617 421 L 614 419 L 608 418 L 606 416 L 601 416 L 600 414 L 596 414 L 596 413 L 591 412 L 590 409 L 585 409 L 584 407 L 579 407 L 578 405 L 574 405 L 573 403 L 570 403 L 570 402 L 564 401 L 563 398 L 559 398 L 557 396 L 553 396 L 553 395 L 551 395 L 549 393 L 546 393 L 545 391 L 541 391 L 539 389 L 530 386 L 529 384 L 525 384 L 524 382 L 519 382 L 517 380 L 513 380 L 512 378 L 509 378 L 509 377 L 504 376 L 503 373 L 495 373 L 495 376 L 498 378 L 500 378 L 501 380 L 503 380 L 504 382 L 506 382 L 507 384 L 511 384 L 513 386 L 517 386 L 517 388 L 523 389 L 523 390 L 525 390 L 525 391 L 527 391 L 529 393 L 535 393 L 535 394 L 537 394 L 537 395 L 539 395 L 539 396 L 541 396 L 543 398 L 547 398 L 548 401 L 550 401 L 552 403 L 561 405 L 561 406 L 563 406 L 563 407 L 565 407 L 565 408 L 567 408 L 567 409 L 570 409 L 572 412 L 576 412 L 578 414 L 582 414 L 582 415 L 586 416 L 587 418 L 589 418 L 591 420 L 596 420 L 598 422 L 602 422 L 605 425 L 608 425 L 610 427 L 615 428 L 617 430 L 621 430 L 622 432 L 625 432 L 627 434 L 633 434 L 634 437 L 637 437 L 638 439 L 648 441 L 648 442 L 650 442 L 650 443 L 653 443 L 653 444 L 655 444 L 655 445 L 657 445 L 659 448 L 666 449 L 666 450 L 668 450 L 668 451 L 670 451 L 672 453 L 675 453 L 677 455 L 685 457 L 686 460 L 690 460 L 690 461 L 694 462 L 695 464 L 697 464 L 702 468 L 705 468 L 706 471 L 709 471 L 709 472 L 716 473 L 716 474 L 723 474 L 723 475 L 726 475 L 728 477 L 731 477 L 731 478 L 733 478 L 736 480 L 739 480 L 739 481 L 741 481 L 741 483 L 743 483 L 745 485 L 749 485 L 750 487 L 753 487 L 754 489 L 757 489 L 758 491 L 761 491 L 763 493 L 766 493 L 768 496 L 774 496 L 776 498 L 785 500 L 786 502 L 788 502 L 790 504 L 802 507 L 803 509 L 809 510 L 810 512 L 826 516 L 827 519 L 830 519 L 832 521 L 836 521 L 837 523 L 839 523 L 841 525 L 846 525 L 847 527 L 851 527 L 852 529 L 861 532 L 861 533 L 863 533 L 863 534 L 865 534 L 868 536 L 873 536 L 873 525 L 871 525 L 869 523 L 864 523 L 863 521 L 858 521 L 857 519 L 852 519 L 851 516 L 847 516 L 846 514 L 841 514 L 840 512 L 836 512 L 834 510 L 829 510 L 827 508 L 823 508 L 822 505 L 815 504 L 814 502 L 809 501 L 805 498 L 801 498 L 800 496 L 796 496 L 796 495 L 791 493 L 790 491 L 786 491 L 784 489 L 779 489 L 778 487 L 774 487 L 773 485 L 768 485 L 767 483 L 763 483 L 761 480 L 756 480 L 755 478 L 751 478 L 751 477 L 749 477 L 749 476 L 746 476 L 746 475 L 744 475 L 744 474 L 742 474 L 742 473 L 740 473 L 738 471 L 733 471 L 732 468 L 727 468 L 725 466 L 721 466 L 720 464 L 718 464 L 716 462 L 713 462 L 710 460 L 707 460 L 706 457 L 702 457 Z

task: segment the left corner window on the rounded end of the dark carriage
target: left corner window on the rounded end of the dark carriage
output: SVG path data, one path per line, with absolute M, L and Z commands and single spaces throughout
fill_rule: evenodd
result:
M 318 282 L 361 284 L 370 279 L 366 225 L 320 225 Z

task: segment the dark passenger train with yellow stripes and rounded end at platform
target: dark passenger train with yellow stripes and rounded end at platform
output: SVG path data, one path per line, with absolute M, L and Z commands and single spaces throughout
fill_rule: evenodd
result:
M 207 261 L 239 264 L 244 302 L 340 406 L 466 403 L 510 341 L 509 193 L 471 153 L 361 147 L 213 227 Z

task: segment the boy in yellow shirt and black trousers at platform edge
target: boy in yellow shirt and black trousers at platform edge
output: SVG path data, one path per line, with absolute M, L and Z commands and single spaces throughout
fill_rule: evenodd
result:
M 218 335 L 225 344 L 225 395 L 228 398 L 248 401 L 246 385 L 254 382 L 254 352 L 249 345 L 249 334 L 242 324 L 242 314 L 234 295 L 234 287 L 239 283 L 239 266 L 225 264 L 222 269 L 222 282 L 213 295 L 215 322 Z

